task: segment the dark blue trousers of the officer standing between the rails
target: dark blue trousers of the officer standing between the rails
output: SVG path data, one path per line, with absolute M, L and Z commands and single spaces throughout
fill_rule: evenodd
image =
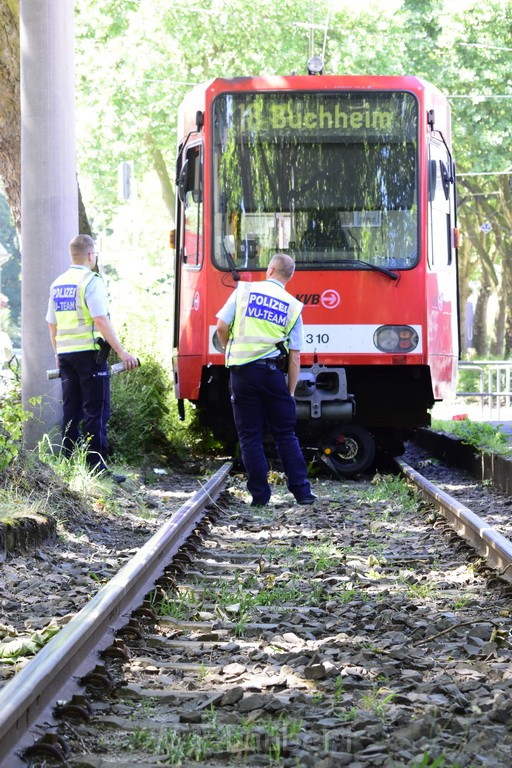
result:
M 295 435 L 295 400 L 288 392 L 286 377 L 275 363 L 258 360 L 231 368 L 231 403 L 247 472 L 247 489 L 254 504 L 266 504 L 271 496 L 268 463 L 263 450 L 266 422 L 277 454 L 295 498 L 311 493 L 307 465 Z

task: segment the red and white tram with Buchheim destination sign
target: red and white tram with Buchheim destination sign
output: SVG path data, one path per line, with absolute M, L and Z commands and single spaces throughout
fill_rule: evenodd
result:
M 174 383 L 236 443 L 215 314 L 293 256 L 297 434 L 334 473 L 396 455 L 458 360 L 450 109 L 415 77 L 216 79 L 179 112 Z

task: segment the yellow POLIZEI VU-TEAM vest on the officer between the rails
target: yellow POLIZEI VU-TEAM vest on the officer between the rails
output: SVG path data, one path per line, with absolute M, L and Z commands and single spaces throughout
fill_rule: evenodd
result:
M 290 331 L 302 303 L 270 280 L 240 282 L 236 287 L 235 319 L 230 328 L 226 366 L 246 365 L 276 350 L 282 341 L 288 346 Z

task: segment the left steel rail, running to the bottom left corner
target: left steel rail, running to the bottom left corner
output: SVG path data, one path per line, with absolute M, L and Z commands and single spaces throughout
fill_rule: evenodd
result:
M 94 655 L 111 645 L 164 568 L 205 517 L 232 468 L 225 463 L 168 520 L 111 581 L 0 690 L 0 768 L 26 766 L 20 750 L 30 745 L 30 728 L 57 699 L 76 692 L 80 675 L 97 663 Z M 137 602 L 139 601 L 139 602 Z M 47 715 L 47 710 L 49 714 Z M 32 736 L 32 741 L 34 737 Z

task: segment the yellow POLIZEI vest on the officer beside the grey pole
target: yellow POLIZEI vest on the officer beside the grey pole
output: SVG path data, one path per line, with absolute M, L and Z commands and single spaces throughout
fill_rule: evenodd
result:
M 53 307 L 57 318 L 57 353 L 97 349 L 94 322 L 85 303 L 85 290 L 100 275 L 91 270 L 68 269 L 52 284 Z

